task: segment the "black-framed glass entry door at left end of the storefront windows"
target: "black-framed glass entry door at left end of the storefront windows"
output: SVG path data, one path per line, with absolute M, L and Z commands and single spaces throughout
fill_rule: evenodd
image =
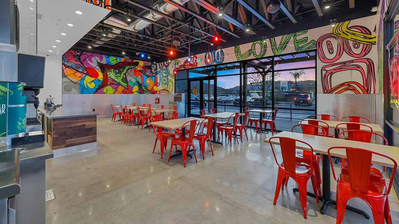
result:
M 215 106 L 215 78 L 201 77 L 188 81 L 191 97 L 188 101 L 188 116 L 199 117 L 200 110 L 209 110 Z

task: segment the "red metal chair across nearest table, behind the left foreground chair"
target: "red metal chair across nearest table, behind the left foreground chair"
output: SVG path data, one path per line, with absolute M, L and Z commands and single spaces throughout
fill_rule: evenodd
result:
M 313 124 L 297 124 L 294 127 L 292 127 L 291 132 L 294 131 L 294 128 L 300 126 L 302 128 L 302 133 L 303 134 L 308 134 L 308 135 L 314 135 L 314 136 L 319 136 L 321 133 L 321 136 L 326 137 L 327 133 L 326 131 L 324 131 L 323 128 L 313 125 Z M 319 132 L 319 130 L 321 130 L 321 132 Z M 300 161 L 301 163 L 313 163 L 313 168 L 314 168 L 314 173 L 316 176 L 316 188 L 318 193 L 321 195 L 321 189 L 320 189 L 320 185 L 322 183 L 322 179 L 320 176 L 320 157 L 316 154 L 313 154 L 313 156 L 311 156 L 312 154 L 310 154 L 309 151 L 297 151 L 296 152 L 296 157 L 298 159 L 298 161 Z M 312 157 L 312 159 L 310 159 L 310 157 Z M 311 161 L 312 160 L 312 161 Z M 286 179 L 285 185 L 288 184 L 288 178 Z

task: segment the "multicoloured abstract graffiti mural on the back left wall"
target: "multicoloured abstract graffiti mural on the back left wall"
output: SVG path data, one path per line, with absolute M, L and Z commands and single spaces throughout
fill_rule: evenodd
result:
M 150 63 L 69 50 L 62 55 L 63 94 L 155 94 Z

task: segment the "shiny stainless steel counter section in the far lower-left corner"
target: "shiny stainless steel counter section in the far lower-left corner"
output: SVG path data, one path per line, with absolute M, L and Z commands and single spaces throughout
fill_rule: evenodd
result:
M 0 199 L 21 193 L 18 150 L 0 152 Z

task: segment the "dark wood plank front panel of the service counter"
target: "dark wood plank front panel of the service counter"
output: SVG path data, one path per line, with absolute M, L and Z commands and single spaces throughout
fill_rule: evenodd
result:
M 97 141 L 97 116 L 56 118 L 51 124 L 51 149 Z

